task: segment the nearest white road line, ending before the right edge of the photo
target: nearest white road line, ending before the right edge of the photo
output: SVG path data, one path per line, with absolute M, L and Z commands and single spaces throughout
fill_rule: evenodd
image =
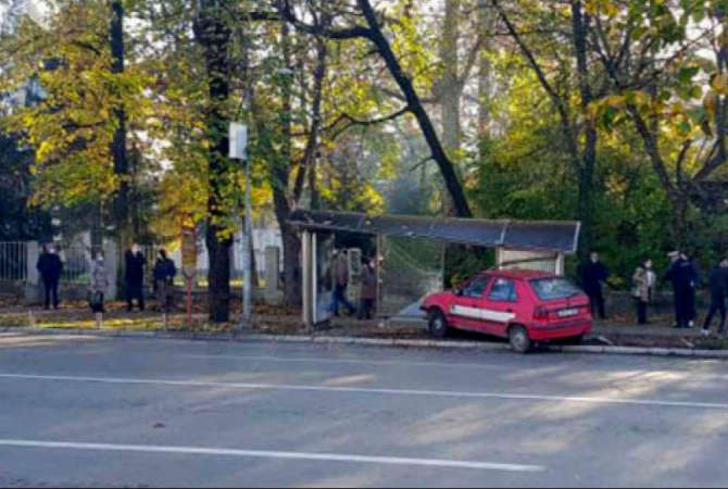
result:
M 190 447 L 159 447 L 106 443 L 67 443 L 51 441 L 0 440 L 0 448 L 76 450 L 97 452 L 156 453 L 173 455 L 235 456 L 240 459 L 277 459 L 309 462 L 341 462 L 371 465 L 403 465 L 435 468 L 457 468 L 492 472 L 536 473 L 545 468 L 538 465 L 497 464 L 486 462 L 459 462 L 429 459 L 402 459 L 390 456 L 344 455 L 335 453 L 272 452 L 260 450 L 230 450 Z

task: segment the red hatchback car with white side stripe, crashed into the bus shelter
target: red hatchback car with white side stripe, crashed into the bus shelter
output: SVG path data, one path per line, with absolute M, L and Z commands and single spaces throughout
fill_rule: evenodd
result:
M 510 339 L 518 353 L 537 342 L 581 341 L 593 324 L 581 289 L 553 274 L 519 269 L 485 272 L 459 290 L 428 297 L 422 309 L 432 336 L 484 333 Z

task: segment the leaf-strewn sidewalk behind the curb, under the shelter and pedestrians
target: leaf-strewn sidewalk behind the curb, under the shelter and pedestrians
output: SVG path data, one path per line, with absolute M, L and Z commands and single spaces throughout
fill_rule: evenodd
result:
M 667 319 L 669 321 L 669 319 Z M 95 321 L 83 309 L 66 309 L 61 312 L 23 311 L 22 309 L 0 310 L 0 330 L 55 330 L 78 333 L 93 331 Z M 206 322 L 206 315 L 196 312 L 193 326 L 188 328 L 186 317 L 181 313 L 170 317 L 168 329 L 165 331 L 162 316 L 159 312 L 145 314 L 126 313 L 114 311 L 109 314 L 104 322 L 105 336 L 121 336 L 124 334 L 136 334 L 147 337 L 176 337 L 189 338 L 231 338 L 235 331 L 239 331 L 237 318 L 226 325 L 211 325 Z M 99 333 L 99 331 L 96 331 Z M 266 338 L 286 337 L 299 338 L 301 341 L 316 341 L 329 338 L 339 342 L 355 339 L 369 341 L 410 341 L 413 344 L 434 343 L 427 333 L 427 324 L 424 321 L 390 321 L 390 322 L 359 322 L 353 318 L 336 319 L 328 327 L 307 331 L 301 324 L 298 315 L 275 315 L 271 311 L 260 310 L 254 316 L 254 327 L 248 335 L 259 335 Z M 505 346 L 503 340 L 490 338 L 477 334 L 455 333 L 445 342 L 457 343 L 463 348 L 467 344 L 485 346 L 494 344 L 498 348 Z M 438 344 L 443 342 L 437 341 Z M 726 351 L 728 352 L 728 340 L 715 337 L 703 338 L 700 329 L 676 330 L 668 325 L 653 325 L 649 327 L 630 326 L 619 319 L 602 323 L 598 322 L 592 334 L 586 339 L 585 347 L 603 349 L 611 348 L 637 348 L 648 350 L 683 350 L 690 351 Z M 558 346 L 556 346 L 558 347 Z

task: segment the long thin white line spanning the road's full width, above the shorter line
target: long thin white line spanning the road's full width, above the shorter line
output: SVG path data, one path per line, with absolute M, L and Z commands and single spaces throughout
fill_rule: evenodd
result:
M 378 396 L 426 397 L 426 398 L 445 398 L 445 399 L 447 398 L 487 399 L 487 400 L 499 400 L 499 401 L 567 402 L 577 404 L 606 404 L 606 405 L 626 405 L 626 406 L 728 411 L 728 404 L 719 404 L 711 402 L 680 402 L 680 401 L 639 400 L 639 399 L 618 399 L 618 398 L 586 398 L 586 397 L 569 397 L 569 396 L 536 396 L 536 394 L 457 392 L 457 391 L 412 390 L 412 389 L 376 389 L 376 388 L 364 388 L 364 387 L 290 386 L 285 384 L 275 385 L 275 384 L 215 383 L 215 381 L 202 381 L 202 380 L 71 377 L 60 375 L 0 374 L 0 380 L 2 379 L 76 383 L 76 384 L 129 385 L 129 386 L 199 387 L 199 388 L 224 388 L 224 389 L 241 389 L 241 390 L 269 390 L 269 391 L 277 390 L 277 391 L 292 391 L 292 392 L 378 394 Z

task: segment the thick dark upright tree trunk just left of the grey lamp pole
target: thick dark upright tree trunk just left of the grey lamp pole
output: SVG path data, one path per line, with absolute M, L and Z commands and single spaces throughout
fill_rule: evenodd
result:
M 225 225 L 229 137 L 227 103 L 230 97 L 229 46 L 233 32 L 227 18 L 230 0 L 200 0 L 196 37 L 205 53 L 208 74 L 209 187 L 206 243 L 210 254 L 210 321 L 230 321 L 230 252 L 233 237 Z

